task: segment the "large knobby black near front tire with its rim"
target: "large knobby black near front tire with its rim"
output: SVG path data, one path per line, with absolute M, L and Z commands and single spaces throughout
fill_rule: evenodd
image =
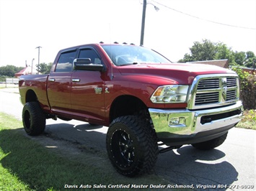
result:
M 159 153 L 148 121 L 138 116 L 115 118 L 107 131 L 107 154 L 112 166 L 128 177 L 149 172 Z

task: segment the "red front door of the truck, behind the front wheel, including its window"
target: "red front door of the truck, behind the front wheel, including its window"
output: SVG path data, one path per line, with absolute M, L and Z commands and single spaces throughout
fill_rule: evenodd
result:
M 91 47 L 79 50 L 79 58 L 89 58 L 92 64 L 102 63 Z M 82 120 L 97 124 L 105 118 L 104 73 L 100 71 L 74 70 L 71 78 L 71 105 Z

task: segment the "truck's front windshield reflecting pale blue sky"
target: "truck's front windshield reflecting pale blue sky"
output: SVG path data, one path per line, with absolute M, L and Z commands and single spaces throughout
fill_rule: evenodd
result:
M 170 63 L 154 50 L 135 45 L 102 45 L 115 65 L 134 65 L 140 63 Z

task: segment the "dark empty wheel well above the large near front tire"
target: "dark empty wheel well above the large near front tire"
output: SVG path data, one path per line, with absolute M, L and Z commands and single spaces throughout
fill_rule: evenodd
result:
M 140 114 L 141 111 L 147 111 L 143 101 L 132 95 L 121 95 L 113 101 L 110 108 L 110 123 L 120 116 Z

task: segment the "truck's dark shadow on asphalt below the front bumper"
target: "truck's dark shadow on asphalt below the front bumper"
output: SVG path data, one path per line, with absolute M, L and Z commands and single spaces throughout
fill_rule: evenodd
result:
M 224 159 L 225 156 L 219 149 L 200 151 L 186 145 L 160 154 L 154 169 L 156 174 L 177 185 L 194 185 L 195 188 L 200 185 L 213 185 L 212 188 L 216 186 L 215 189 L 226 190 L 222 186 L 231 185 L 236 181 L 238 172 Z

